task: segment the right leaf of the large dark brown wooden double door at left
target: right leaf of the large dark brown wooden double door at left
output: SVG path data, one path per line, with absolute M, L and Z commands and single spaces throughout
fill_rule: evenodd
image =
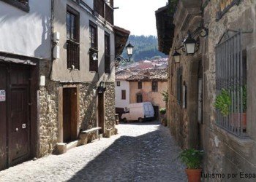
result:
M 15 165 L 29 157 L 29 68 L 10 66 L 9 164 Z

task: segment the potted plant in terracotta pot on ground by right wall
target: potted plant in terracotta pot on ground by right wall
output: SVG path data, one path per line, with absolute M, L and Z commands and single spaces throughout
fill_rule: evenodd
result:
M 178 156 L 184 165 L 187 165 L 186 173 L 189 182 L 200 182 L 202 173 L 203 151 L 196 149 L 185 149 Z

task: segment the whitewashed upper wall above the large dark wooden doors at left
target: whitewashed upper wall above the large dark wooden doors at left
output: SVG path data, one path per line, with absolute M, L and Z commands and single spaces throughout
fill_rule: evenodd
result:
M 0 52 L 50 58 L 50 4 L 32 0 L 24 12 L 0 1 Z

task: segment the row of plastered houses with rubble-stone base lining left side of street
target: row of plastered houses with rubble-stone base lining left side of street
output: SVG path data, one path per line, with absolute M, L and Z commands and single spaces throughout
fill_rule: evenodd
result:
M 129 36 L 113 1 L 1 0 L 0 20 L 0 169 L 77 146 L 84 130 L 113 133 Z

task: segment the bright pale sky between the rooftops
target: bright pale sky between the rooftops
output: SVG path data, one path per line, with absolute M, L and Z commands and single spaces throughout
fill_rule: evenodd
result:
M 115 0 L 115 25 L 131 31 L 132 35 L 157 36 L 155 11 L 167 0 Z

